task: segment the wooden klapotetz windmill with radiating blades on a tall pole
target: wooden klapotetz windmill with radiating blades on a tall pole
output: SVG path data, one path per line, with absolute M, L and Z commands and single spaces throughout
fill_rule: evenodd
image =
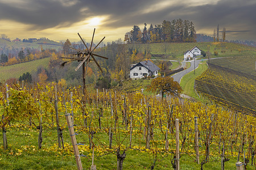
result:
M 100 45 L 101 42 L 105 39 L 105 37 L 103 37 L 103 39 L 100 42 L 98 42 L 98 44 L 92 49 L 94 33 L 95 33 L 95 28 L 94 28 L 94 31 L 93 31 L 92 42 L 90 43 L 90 48 L 87 47 L 87 45 L 85 44 L 85 42 L 82 39 L 82 37 L 80 36 L 80 34 L 77 33 L 79 35 L 80 39 L 82 40 L 82 43 L 85 45 L 86 50 L 70 48 L 70 49 L 75 50 L 77 52 L 76 54 L 71 54 L 71 56 L 74 56 L 74 57 L 61 57 L 61 58 L 64 58 L 64 59 L 68 59 L 68 61 L 63 62 L 61 64 L 61 66 L 64 66 L 65 63 L 70 62 L 70 61 L 79 61 L 80 64 L 75 69 L 75 71 L 77 71 L 82 65 L 82 82 L 83 82 L 83 94 L 84 95 L 85 95 L 85 77 L 86 77 L 89 62 L 94 61 L 96 63 L 96 65 L 98 66 L 98 68 L 101 70 L 101 73 L 102 73 L 101 66 L 96 61 L 95 56 L 96 57 L 101 57 L 101 58 L 104 58 L 104 59 L 108 59 L 107 57 L 103 57 L 103 56 L 100 56 L 98 54 L 93 53 L 93 51 L 97 48 L 97 46 Z M 92 59 L 90 59 L 90 58 L 92 58 Z M 85 66 L 85 62 L 86 62 L 86 66 Z

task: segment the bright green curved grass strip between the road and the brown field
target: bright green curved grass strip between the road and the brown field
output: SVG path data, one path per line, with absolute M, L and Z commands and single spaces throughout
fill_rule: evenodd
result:
M 183 93 L 185 95 L 191 96 L 194 99 L 200 100 L 199 96 L 197 96 L 194 92 L 194 84 L 195 84 L 195 79 L 197 76 L 201 75 L 205 70 L 207 70 L 208 66 L 206 62 L 204 61 L 203 63 L 199 64 L 199 67 L 196 69 L 196 74 L 194 74 L 194 71 L 191 71 L 190 73 L 186 74 L 181 78 L 180 80 L 180 86 L 183 89 Z

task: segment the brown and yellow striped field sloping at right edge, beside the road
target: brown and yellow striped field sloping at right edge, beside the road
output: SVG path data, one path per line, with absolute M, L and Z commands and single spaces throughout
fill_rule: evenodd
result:
M 196 78 L 195 88 L 221 104 L 255 114 L 255 61 L 248 57 L 233 59 L 210 61 L 213 64 Z

